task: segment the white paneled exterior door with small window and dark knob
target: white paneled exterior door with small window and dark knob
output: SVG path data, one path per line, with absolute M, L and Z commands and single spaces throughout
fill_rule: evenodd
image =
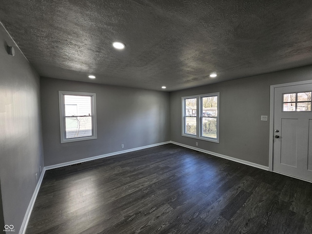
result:
M 312 181 L 312 84 L 274 89 L 273 171 Z

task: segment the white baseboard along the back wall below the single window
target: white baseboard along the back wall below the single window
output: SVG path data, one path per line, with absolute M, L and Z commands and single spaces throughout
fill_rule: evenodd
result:
M 137 150 L 143 150 L 143 149 L 147 149 L 147 148 L 151 148 L 151 147 L 155 147 L 155 146 L 159 146 L 159 145 L 165 145 L 165 144 L 169 144 L 169 143 L 170 143 L 170 141 L 166 141 L 166 142 L 161 142 L 161 143 L 157 143 L 157 144 L 153 144 L 153 145 L 146 145 L 146 146 L 142 146 L 142 147 L 132 148 L 129 150 L 117 151 L 117 152 L 113 152 L 113 153 L 109 153 L 109 154 L 105 154 L 105 155 L 87 157 L 87 158 L 82 158 L 82 159 L 78 159 L 78 160 L 74 160 L 74 161 L 70 161 L 70 162 L 59 163 L 59 164 L 55 164 L 55 165 L 51 165 L 51 166 L 46 166 L 44 168 L 45 168 L 45 170 L 50 170 L 50 169 L 55 169 L 55 168 L 59 168 L 59 167 L 74 165 L 74 164 L 81 163 L 81 162 L 88 162 L 88 161 L 96 160 L 96 159 L 103 158 L 103 157 L 121 155 L 121 154 L 129 153 L 129 152 L 133 152 L 133 151 L 137 151 Z

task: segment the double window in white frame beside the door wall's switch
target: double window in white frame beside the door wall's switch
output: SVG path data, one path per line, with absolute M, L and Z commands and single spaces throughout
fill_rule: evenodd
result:
M 219 143 L 219 93 L 182 98 L 182 136 Z

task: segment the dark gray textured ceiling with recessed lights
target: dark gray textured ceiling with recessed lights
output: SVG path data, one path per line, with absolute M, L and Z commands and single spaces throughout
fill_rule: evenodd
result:
M 44 77 L 173 91 L 312 64 L 312 0 L 1 0 L 0 21 Z

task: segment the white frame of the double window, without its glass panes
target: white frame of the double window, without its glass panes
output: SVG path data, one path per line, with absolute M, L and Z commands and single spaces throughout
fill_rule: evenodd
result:
M 217 117 L 216 117 L 216 138 L 211 137 L 203 137 L 202 136 L 202 98 L 217 96 Z M 192 134 L 185 133 L 185 100 L 190 98 L 196 98 L 196 136 Z M 200 140 L 211 141 L 215 143 L 219 143 L 219 129 L 220 129 L 220 93 L 211 93 L 211 94 L 201 94 L 201 95 L 193 95 L 182 97 L 182 136 L 183 137 L 191 137 Z

